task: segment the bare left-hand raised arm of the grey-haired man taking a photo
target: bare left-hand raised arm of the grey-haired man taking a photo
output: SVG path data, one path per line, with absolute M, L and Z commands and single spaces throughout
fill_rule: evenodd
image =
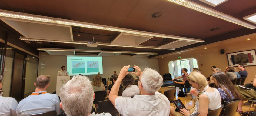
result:
M 120 84 L 121 84 L 123 78 L 125 77 L 125 75 L 127 75 L 129 73 L 129 72 L 127 72 L 129 67 L 130 67 L 130 65 L 124 66 L 121 69 L 121 71 L 119 73 L 119 76 L 118 76 L 117 80 L 115 81 L 115 84 L 111 88 L 111 91 L 108 95 L 109 100 L 112 102 L 112 104 L 114 106 L 115 106 L 115 100 L 116 100 L 116 98 L 118 98 L 117 94 L 118 94 L 118 91 L 119 91 Z

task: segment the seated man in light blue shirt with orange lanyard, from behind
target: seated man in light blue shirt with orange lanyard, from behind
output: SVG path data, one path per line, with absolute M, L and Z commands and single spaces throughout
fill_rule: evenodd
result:
M 50 85 L 49 82 L 49 75 L 41 75 L 36 78 L 34 83 L 35 92 L 18 104 L 16 109 L 18 116 L 42 114 L 49 111 L 56 111 L 57 114 L 61 113 L 59 97 L 46 91 L 46 88 Z

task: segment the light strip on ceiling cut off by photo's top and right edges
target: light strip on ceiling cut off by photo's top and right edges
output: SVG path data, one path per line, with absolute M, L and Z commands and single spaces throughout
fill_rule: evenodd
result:
M 246 28 L 250 28 L 250 29 L 255 29 L 256 28 L 256 26 L 251 25 L 251 24 L 246 23 L 246 22 L 243 22 L 243 21 L 241 21 L 237 18 L 234 18 L 230 15 L 224 14 L 222 12 L 216 11 L 214 9 L 208 8 L 206 6 L 203 6 L 203 5 L 191 2 L 191 1 L 186 1 L 186 0 L 169 0 L 169 1 L 174 2 L 176 4 L 179 4 L 179 5 L 182 5 L 182 6 L 185 6 L 187 8 L 197 10 L 199 12 L 203 12 L 203 13 L 211 15 L 211 16 L 221 18 L 223 20 L 226 20 L 226 21 L 244 26 Z

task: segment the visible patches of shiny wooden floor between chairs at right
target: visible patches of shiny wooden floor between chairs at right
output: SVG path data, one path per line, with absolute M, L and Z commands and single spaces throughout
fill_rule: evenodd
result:
M 170 88 L 168 88 L 168 87 L 162 87 L 162 88 L 160 88 L 158 91 L 161 91 L 161 93 L 164 94 L 165 90 L 168 90 L 168 89 L 170 89 Z M 188 95 L 188 96 L 187 96 L 187 99 L 186 99 L 185 97 L 178 97 L 177 95 L 176 95 L 176 97 L 175 97 L 175 99 L 180 99 L 181 102 L 185 105 L 185 107 L 186 107 L 187 109 L 190 109 L 190 108 L 192 108 L 192 107 L 194 106 L 193 101 L 192 101 L 190 98 L 192 98 L 191 95 Z M 246 102 L 246 101 L 244 101 L 244 102 Z M 171 103 L 170 105 L 173 107 L 173 104 L 172 104 L 172 103 Z M 255 108 L 255 107 L 252 107 L 251 110 L 253 111 L 254 108 Z M 245 112 L 245 111 L 248 111 L 249 109 L 250 109 L 250 106 L 243 106 L 243 111 L 244 111 L 244 112 Z M 236 113 L 235 116 L 240 116 L 240 115 L 239 115 L 239 113 Z

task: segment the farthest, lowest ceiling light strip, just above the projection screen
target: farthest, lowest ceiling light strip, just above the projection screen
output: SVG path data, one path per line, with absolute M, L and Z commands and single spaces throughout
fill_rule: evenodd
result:
M 148 55 L 158 55 L 154 52 L 132 52 L 132 51 L 101 51 L 101 50 L 81 50 L 81 49 L 57 49 L 57 48 L 37 48 L 41 51 L 78 51 L 78 52 L 101 52 L 101 53 L 123 53 L 123 54 L 148 54 Z

